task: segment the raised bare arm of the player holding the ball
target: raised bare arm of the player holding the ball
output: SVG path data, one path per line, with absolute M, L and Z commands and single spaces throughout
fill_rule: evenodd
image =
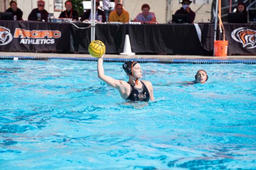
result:
M 114 87 L 116 89 L 120 89 L 122 86 L 121 80 L 114 79 L 110 76 L 105 75 L 104 67 L 103 67 L 103 56 L 98 59 L 98 78 L 102 79 L 105 83 Z

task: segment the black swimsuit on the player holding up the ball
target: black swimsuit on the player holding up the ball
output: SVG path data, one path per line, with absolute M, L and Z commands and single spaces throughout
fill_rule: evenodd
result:
M 129 83 L 129 82 L 127 82 Z M 141 81 L 142 83 L 142 88 L 136 88 L 130 83 L 130 95 L 126 98 L 126 100 L 131 100 L 131 101 L 143 101 L 143 102 L 148 102 L 150 99 L 149 91 L 147 90 L 145 84 Z

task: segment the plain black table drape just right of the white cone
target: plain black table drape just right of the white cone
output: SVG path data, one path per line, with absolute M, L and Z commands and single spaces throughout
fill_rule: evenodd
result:
M 194 24 L 130 25 L 133 52 L 201 55 Z

